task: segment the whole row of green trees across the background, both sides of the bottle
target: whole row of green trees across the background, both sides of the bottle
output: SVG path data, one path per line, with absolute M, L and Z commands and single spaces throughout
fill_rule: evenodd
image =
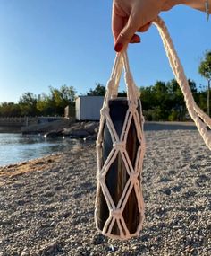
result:
M 190 89 L 198 106 L 207 110 L 206 91 L 197 91 L 194 81 L 189 80 Z M 87 95 L 104 96 L 105 86 L 96 84 Z M 18 104 L 4 102 L 0 104 L 1 117 L 16 116 L 63 116 L 64 108 L 69 105 L 74 110 L 76 91 L 72 86 L 62 85 L 60 88 L 49 86 L 48 93 L 38 96 L 33 93 L 23 93 Z M 126 92 L 118 93 L 119 97 L 125 97 Z M 157 81 L 155 85 L 140 88 L 140 99 L 145 119 L 147 120 L 185 120 L 187 110 L 181 89 L 176 80 L 167 83 Z

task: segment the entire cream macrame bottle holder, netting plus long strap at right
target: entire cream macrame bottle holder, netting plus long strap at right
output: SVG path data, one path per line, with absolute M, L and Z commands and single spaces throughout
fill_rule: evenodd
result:
M 207 116 L 206 113 L 198 108 L 198 105 L 193 99 L 190 86 L 181 66 L 180 59 L 173 47 L 173 41 L 170 38 L 167 28 L 165 27 L 165 23 L 160 17 L 157 17 L 157 19 L 154 21 L 154 24 L 159 31 L 161 39 L 163 40 L 166 55 L 169 58 L 170 66 L 173 69 L 173 74 L 175 75 L 175 78 L 181 87 L 181 92 L 184 95 L 184 100 L 190 113 L 190 117 L 194 120 L 201 137 L 204 139 L 206 145 L 211 150 L 211 134 L 207 129 L 207 127 L 211 129 L 211 119 Z M 124 80 L 127 88 L 128 110 L 123 122 L 121 136 L 118 136 L 114 128 L 113 121 L 110 117 L 109 101 L 117 98 L 122 69 L 124 69 L 125 73 Z M 134 166 L 131 164 L 131 160 L 126 148 L 127 137 L 132 119 L 134 120 L 137 138 L 139 141 L 139 147 L 137 150 Z M 108 154 L 105 163 L 103 163 L 102 144 L 105 124 L 112 138 L 113 149 L 111 150 L 110 154 Z M 107 208 L 109 210 L 109 215 L 105 221 L 105 225 L 103 228 L 99 228 L 99 226 L 97 226 L 97 229 L 102 234 L 111 238 L 121 240 L 130 239 L 132 236 L 138 235 L 142 229 L 144 221 L 144 201 L 141 188 L 141 172 L 145 153 L 145 137 L 143 133 L 143 125 L 144 118 L 142 116 L 141 102 L 139 101 L 139 88 L 135 85 L 132 79 L 127 53 L 118 53 L 114 60 L 112 75 L 107 82 L 107 92 L 105 94 L 105 101 L 101 110 L 100 126 L 97 136 L 97 199 L 101 191 L 104 195 Z M 106 175 L 112 163 L 114 163 L 117 154 L 121 154 L 122 161 L 124 163 L 129 179 L 126 182 L 124 190 L 122 191 L 121 198 L 117 204 L 114 204 L 114 200 L 106 186 Z M 130 233 L 123 217 L 124 207 L 130 197 L 131 190 L 135 191 L 135 196 L 139 208 L 139 225 L 137 225 L 136 231 L 132 234 Z M 98 211 L 97 199 L 95 211 L 96 224 Z M 119 234 L 112 234 L 114 225 L 118 226 Z

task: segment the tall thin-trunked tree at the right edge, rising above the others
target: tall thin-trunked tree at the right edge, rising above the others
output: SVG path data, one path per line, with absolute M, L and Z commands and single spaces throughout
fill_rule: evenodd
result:
M 198 67 L 198 73 L 207 80 L 207 115 L 210 116 L 211 51 L 205 53 Z

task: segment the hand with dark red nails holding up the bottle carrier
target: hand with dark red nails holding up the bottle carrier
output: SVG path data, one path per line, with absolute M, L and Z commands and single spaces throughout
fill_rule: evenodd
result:
M 119 52 L 129 42 L 140 42 L 137 31 L 148 31 L 151 22 L 161 11 L 167 11 L 178 4 L 179 0 L 114 0 L 113 34 L 114 49 Z

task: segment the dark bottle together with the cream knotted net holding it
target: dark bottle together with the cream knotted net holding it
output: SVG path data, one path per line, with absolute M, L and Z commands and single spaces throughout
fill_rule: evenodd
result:
M 120 78 L 121 61 L 127 62 L 127 57 L 116 57 L 112 77 Z M 115 69 L 117 66 L 120 66 L 119 71 Z M 112 100 L 116 85 L 111 79 L 100 111 L 96 205 L 96 222 L 100 232 L 122 240 L 138 235 L 142 228 L 144 202 L 140 174 L 145 152 L 144 119 L 138 89 L 131 72 L 127 70 L 128 64 L 123 66 L 128 86 L 127 99 Z

